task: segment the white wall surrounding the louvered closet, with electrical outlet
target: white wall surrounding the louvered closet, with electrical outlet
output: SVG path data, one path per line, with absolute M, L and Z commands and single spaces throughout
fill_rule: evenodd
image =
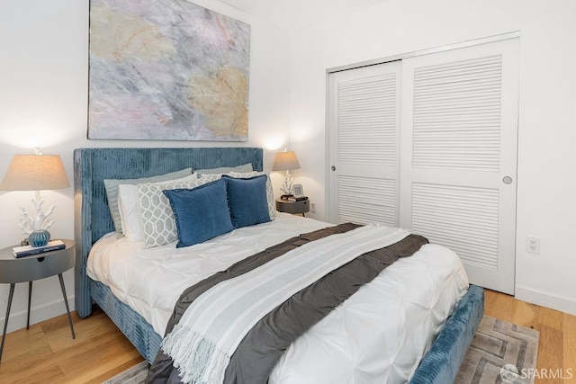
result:
M 576 314 L 576 2 L 388 0 L 294 31 L 294 172 L 325 219 L 326 69 L 520 31 L 516 296 Z M 540 255 L 526 237 L 541 238 Z

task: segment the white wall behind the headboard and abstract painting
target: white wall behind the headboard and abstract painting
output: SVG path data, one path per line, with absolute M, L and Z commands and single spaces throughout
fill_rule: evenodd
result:
M 251 24 L 249 137 L 247 143 L 184 141 L 87 140 L 88 0 L 0 2 L 0 177 L 15 154 L 62 156 L 73 183 L 72 152 L 76 147 L 235 147 L 257 146 L 272 165 L 275 149 L 288 141 L 290 125 L 288 76 L 289 33 L 214 0 L 197 0 L 213 11 Z M 275 175 L 277 177 L 277 175 Z M 55 204 L 54 238 L 74 237 L 72 188 L 42 192 L 46 206 Z M 23 238 L 17 226 L 19 206 L 31 212 L 33 192 L 0 192 L 0 247 Z M 74 306 L 74 274 L 65 273 L 69 302 Z M 0 285 L 0 321 L 8 297 Z M 25 326 L 27 284 L 14 294 L 9 330 Z M 34 283 L 31 322 L 65 312 L 57 278 Z

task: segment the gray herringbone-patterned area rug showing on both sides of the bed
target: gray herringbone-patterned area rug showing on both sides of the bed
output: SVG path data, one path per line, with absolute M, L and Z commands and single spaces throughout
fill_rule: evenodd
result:
M 534 377 L 523 373 L 536 368 L 539 337 L 534 329 L 484 315 L 455 383 L 533 383 Z M 147 373 L 148 364 L 140 362 L 104 384 L 140 384 Z

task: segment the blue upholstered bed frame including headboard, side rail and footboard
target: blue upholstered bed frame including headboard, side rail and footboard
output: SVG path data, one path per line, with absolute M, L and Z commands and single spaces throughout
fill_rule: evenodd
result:
M 193 148 L 79 148 L 74 151 L 76 311 L 92 313 L 96 303 L 148 362 L 160 347 L 161 337 L 142 317 L 114 298 L 111 290 L 86 276 L 88 253 L 94 242 L 114 230 L 104 179 L 134 179 L 193 169 L 252 163 L 263 169 L 263 151 L 257 147 Z M 484 291 L 471 286 L 446 321 L 431 350 L 420 362 L 410 383 L 446 384 L 455 374 L 482 319 Z

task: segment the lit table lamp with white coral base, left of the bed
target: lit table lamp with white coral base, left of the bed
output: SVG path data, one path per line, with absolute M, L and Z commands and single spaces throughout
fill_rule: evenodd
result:
M 69 186 L 60 156 L 14 155 L 4 180 L 0 183 L 0 191 L 36 191 L 36 196 L 32 199 L 36 217 L 31 217 L 20 207 L 20 228 L 24 234 L 28 234 L 28 243 L 31 246 L 46 246 L 50 239 L 48 229 L 54 224 L 54 220 L 49 219 L 54 206 L 47 212 L 42 211 L 44 201 L 40 198 L 40 190 L 56 190 Z

